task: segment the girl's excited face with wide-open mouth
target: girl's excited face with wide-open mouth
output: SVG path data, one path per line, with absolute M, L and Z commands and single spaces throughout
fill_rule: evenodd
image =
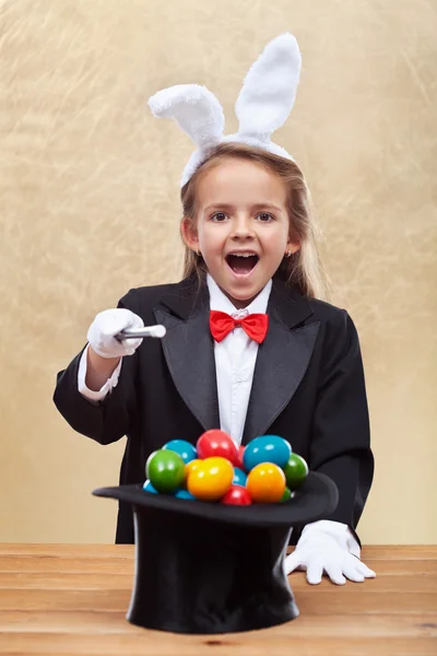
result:
M 182 221 L 182 235 L 236 307 L 248 305 L 284 255 L 299 248 L 285 202 L 281 178 L 245 160 L 226 160 L 199 180 L 197 216 Z

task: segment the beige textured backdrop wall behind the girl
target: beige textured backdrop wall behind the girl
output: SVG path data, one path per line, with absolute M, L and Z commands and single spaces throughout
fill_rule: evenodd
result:
M 436 105 L 433 0 L 3 0 L 0 540 L 111 542 L 122 443 L 51 402 L 95 314 L 178 279 L 191 153 L 146 98 L 206 84 L 227 131 L 247 68 L 290 30 L 304 57 L 277 141 L 304 168 L 332 302 L 362 340 L 376 479 L 367 543 L 435 542 Z

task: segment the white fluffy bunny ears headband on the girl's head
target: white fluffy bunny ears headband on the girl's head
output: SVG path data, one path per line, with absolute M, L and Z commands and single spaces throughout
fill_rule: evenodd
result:
M 300 65 L 299 48 L 292 34 L 276 36 L 265 46 L 250 67 L 235 104 L 239 120 L 235 134 L 224 136 L 222 105 L 205 86 L 176 84 L 149 98 L 154 116 L 177 120 L 198 147 L 184 168 L 181 187 L 208 157 L 208 151 L 220 143 L 246 143 L 293 161 L 286 150 L 271 141 L 271 136 L 284 125 L 293 108 Z

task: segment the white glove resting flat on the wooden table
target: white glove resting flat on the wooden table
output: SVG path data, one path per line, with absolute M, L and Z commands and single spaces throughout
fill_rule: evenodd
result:
M 345 576 L 356 583 L 374 578 L 375 572 L 351 553 L 351 538 L 345 524 L 321 520 L 306 526 L 296 549 L 285 558 L 285 574 L 297 569 L 306 570 L 311 585 L 319 584 L 323 573 L 336 585 L 344 585 Z

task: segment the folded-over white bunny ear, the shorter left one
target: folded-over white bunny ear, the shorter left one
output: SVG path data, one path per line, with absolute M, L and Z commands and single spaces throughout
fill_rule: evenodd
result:
M 225 118 L 222 105 L 200 84 L 176 84 L 149 98 L 154 116 L 174 118 L 200 149 L 218 143 Z

